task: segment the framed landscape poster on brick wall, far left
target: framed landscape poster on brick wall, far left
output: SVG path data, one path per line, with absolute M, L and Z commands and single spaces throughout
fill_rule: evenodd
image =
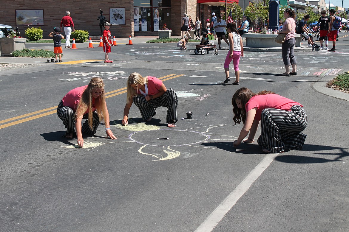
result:
M 16 10 L 16 26 L 44 25 L 44 10 Z

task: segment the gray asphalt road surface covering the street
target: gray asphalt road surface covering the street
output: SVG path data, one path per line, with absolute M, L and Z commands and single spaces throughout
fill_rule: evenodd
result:
M 223 83 L 228 50 L 195 55 L 190 44 L 186 51 L 175 44 L 119 45 L 112 64 L 103 63 L 98 48 L 79 45 L 64 49 L 61 64 L 36 59 L 32 67 L 2 72 L 0 230 L 349 231 L 349 102 L 313 88 L 348 71 L 348 38 L 336 53 L 298 52 L 298 75 L 291 77 L 278 76 L 281 53 L 246 52 L 240 86 L 231 85 L 233 70 Z M 176 127 L 166 127 L 163 107 L 144 123 L 134 105 L 130 124 L 120 124 L 131 72 L 176 90 Z M 100 125 L 79 148 L 76 138 L 61 137 L 55 109 L 95 76 L 106 84 L 118 139 L 105 139 Z M 309 120 L 303 150 L 264 154 L 257 142 L 234 148 L 242 125 L 233 125 L 231 97 L 240 87 L 302 103 Z M 193 118 L 181 120 L 189 111 Z

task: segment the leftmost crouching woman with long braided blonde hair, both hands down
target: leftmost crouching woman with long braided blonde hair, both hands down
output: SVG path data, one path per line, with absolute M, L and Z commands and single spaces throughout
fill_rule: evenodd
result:
M 88 85 L 74 88 L 64 96 L 57 108 L 57 115 L 67 128 L 64 137 L 73 138 L 75 125 L 77 144 L 82 147 L 82 133 L 95 134 L 99 123 L 104 119 L 106 138 L 117 139 L 110 130 L 104 94 L 103 80 L 94 77 Z M 82 119 L 87 120 L 81 126 Z

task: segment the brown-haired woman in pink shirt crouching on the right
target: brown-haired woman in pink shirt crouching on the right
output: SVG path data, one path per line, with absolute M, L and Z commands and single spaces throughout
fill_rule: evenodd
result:
M 271 91 L 253 93 L 248 88 L 240 88 L 231 99 L 236 123 L 244 126 L 237 140 L 238 147 L 243 142 L 250 144 L 261 121 L 261 136 L 258 144 L 266 153 L 283 153 L 285 149 L 302 149 L 306 135 L 301 133 L 307 126 L 307 116 L 300 103 Z M 234 125 L 235 125 L 234 124 Z

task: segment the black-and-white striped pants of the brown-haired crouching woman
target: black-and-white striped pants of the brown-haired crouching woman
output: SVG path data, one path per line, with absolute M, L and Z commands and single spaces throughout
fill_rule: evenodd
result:
M 301 106 L 290 111 L 264 109 L 261 114 L 261 136 L 258 144 L 262 149 L 279 153 L 285 149 L 302 149 L 306 135 L 301 133 L 307 126 L 307 116 Z

